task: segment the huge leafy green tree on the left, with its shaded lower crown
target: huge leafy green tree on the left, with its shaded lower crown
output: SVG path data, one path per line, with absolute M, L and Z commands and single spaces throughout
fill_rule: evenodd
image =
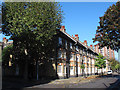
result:
M 53 56 L 55 35 L 61 27 L 61 22 L 62 11 L 56 2 L 2 4 L 2 33 L 13 40 L 17 61 L 24 59 L 24 72 L 27 72 L 28 63 L 36 62 L 38 68 L 38 61 L 45 63 Z M 27 73 L 25 75 L 27 76 Z

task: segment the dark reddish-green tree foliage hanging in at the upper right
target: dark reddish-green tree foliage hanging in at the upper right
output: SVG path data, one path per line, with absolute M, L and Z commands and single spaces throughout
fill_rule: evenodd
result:
M 107 9 L 104 16 L 100 17 L 99 24 L 93 42 L 98 41 L 101 47 L 107 46 L 118 51 L 120 48 L 120 1 Z

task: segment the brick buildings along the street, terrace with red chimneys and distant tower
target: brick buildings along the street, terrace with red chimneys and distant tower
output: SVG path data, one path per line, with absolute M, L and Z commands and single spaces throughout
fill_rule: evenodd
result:
M 56 38 L 56 57 L 52 65 L 56 71 L 54 73 L 59 78 L 95 74 L 97 72 L 95 58 L 100 52 L 103 56 L 115 57 L 114 51 L 110 48 L 104 47 L 100 50 L 98 44 L 94 45 L 93 48 L 93 45 L 87 45 L 87 40 L 81 42 L 78 34 L 70 36 L 66 32 L 65 26 L 58 30 Z M 3 38 L 3 42 L 3 47 L 13 43 L 12 41 L 8 42 L 6 38 Z M 84 65 L 85 69 L 81 69 L 81 65 Z M 106 66 L 108 67 L 108 64 Z M 104 69 L 105 72 L 107 70 L 108 68 Z M 101 73 L 101 70 L 99 70 L 99 73 Z

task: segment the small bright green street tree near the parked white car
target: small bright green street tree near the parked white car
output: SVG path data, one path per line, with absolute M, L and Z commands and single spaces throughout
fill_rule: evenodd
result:
M 102 68 L 106 67 L 105 58 L 100 53 L 97 56 L 97 58 L 95 58 L 95 66 L 97 67 L 97 69 L 102 69 Z M 102 74 L 103 74 L 103 72 L 102 72 Z

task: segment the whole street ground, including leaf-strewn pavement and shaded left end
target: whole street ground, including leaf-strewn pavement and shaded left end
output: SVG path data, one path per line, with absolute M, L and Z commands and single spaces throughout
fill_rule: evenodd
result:
M 108 89 L 112 90 L 112 88 L 120 88 L 120 75 L 118 74 L 113 74 L 112 76 L 103 76 L 103 77 L 98 77 L 98 78 L 92 78 L 92 79 L 85 79 L 82 80 L 80 77 L 78 78 L 69 78 L 69 79 L 59 79 L 59 80 L 54 80 L 52 82 L 46 82 L 45 84 L 24 84 L 20 82 L 3 82 L 3 88 L 7 90 L 12 88 L 22 88 L 23 90 L 25 89 L 40 89 L 40 88 L 103 88 L 103 89 Z

